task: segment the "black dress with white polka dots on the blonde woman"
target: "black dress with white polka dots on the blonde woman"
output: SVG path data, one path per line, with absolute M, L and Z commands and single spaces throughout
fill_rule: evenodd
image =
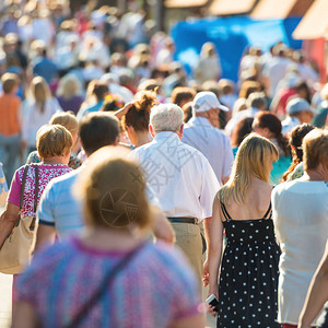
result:
M 278 312 L 280 249 L 270 219 L 229 220 L 219 284 L 216 327 L 281 327 Z

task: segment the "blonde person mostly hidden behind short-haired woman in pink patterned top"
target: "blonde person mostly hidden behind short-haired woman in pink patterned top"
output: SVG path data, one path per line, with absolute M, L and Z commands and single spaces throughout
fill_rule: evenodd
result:
M 69 167 L 77 169 L 82 165 L 82 161 L 77 157 L 74 153 L 78 152 L 79 149 L 79 122 L 77 117 L 69 112 L 61 112 L 52 115 L 51 119 L 49 120 L 49 125 L 60 125 L 67 128 L 71 134 L 73 140 L 72 152 L 69 161 Z M 37 151 L 34 151 L 28 154 L 26 164 L 32 163 L 40 163 L 42 159 Z

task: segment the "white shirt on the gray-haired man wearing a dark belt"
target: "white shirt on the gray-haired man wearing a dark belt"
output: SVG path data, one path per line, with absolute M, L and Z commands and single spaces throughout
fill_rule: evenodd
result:
M 174 132 L 160 132 L 132 152 L 168 218 L 212 216 L 220 184 L 209 161 Z

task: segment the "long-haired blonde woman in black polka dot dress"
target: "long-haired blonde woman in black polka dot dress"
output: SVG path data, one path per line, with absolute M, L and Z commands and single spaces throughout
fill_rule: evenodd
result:
M 230 180 L 215 197 L 208 262 L 210 294 L 219 298 L 218 327 L 281 327 L 276 321 L 280 249 L 269 184 L 278 156 L 268 139 L 248 136 L 239 147 Z M 224 230 L 226 247 L 221 261 Z M 213 307 L 210 311 L 213 313 Z

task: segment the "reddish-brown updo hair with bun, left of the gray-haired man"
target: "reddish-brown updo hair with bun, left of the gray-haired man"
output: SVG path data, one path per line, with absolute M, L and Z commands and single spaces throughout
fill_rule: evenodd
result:
M 138 92 L 133 105 L 122 119 L 124 126 L 132 127 L 136 131 L 148 131 L 150 112 L 156 104 L 156 92 Z

